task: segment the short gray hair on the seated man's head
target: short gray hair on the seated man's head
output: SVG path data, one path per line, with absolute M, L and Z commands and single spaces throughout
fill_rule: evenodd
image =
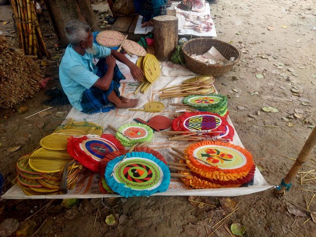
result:
M 89 36 L 90 27 L 83 21 L 70 21 L 65 27 L 66 36 L 72 45 L 78 45 Z

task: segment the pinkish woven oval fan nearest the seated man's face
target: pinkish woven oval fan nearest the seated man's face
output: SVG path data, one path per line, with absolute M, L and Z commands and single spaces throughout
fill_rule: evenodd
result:
M 105 47 L 117 47 L 123 42 L 124 38 L 124 35 L 118 31 L 101 31 L 96 36 L 98 44 Z

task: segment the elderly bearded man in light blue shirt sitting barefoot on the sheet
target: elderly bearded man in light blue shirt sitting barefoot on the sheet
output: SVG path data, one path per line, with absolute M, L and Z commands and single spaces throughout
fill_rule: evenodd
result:
M 126 64 L 134 79 L 141 80 L 143 71 L 123 54 L 93 43 L 90 27 L 81 21 L 70 21 L 65 27 L 70 41 L 59 67 L 61 85 L 72 106 L 83 113 L 108 112 L 116 108 L 131 108 L 137 99 L 120 96 L 119 81 L 125 79 L 116 59 Z M 99 62 L 94 65 L 93 58 Z

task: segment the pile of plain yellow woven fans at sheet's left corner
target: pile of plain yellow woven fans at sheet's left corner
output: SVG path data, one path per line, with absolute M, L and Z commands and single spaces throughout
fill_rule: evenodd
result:
M 89 122 L 73 122 L 58 127 L 40 141 L 41 148 L 16 163 L 17 184 L 27 195 L 67 193 L 79 179 L 82 165 L 67 153 L 72 135 L 102 133 L 102 127 Z

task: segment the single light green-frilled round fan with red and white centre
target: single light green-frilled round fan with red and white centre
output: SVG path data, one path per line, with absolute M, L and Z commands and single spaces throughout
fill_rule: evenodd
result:
M 150 142 L 153 134 L 153 129 L 145 124 L 127 123 L 118 128 L 115 136 L 122 145 L 133 146 L 137 143 Z

